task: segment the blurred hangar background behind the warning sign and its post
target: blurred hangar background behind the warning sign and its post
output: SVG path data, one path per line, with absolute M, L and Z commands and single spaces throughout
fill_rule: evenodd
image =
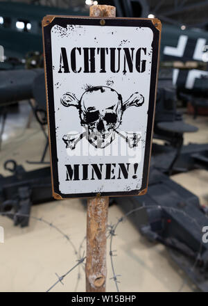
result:
M 86 251 L 86 199 L 51 193 L 41 22 L 103 4 L 162 22 L 148 192 L 110 197 L 106 291 L 207 292 L 206 0 L 0 1 L 0 291 L 47 291 Z M 84 264 L 51 291 L 85 291 Z

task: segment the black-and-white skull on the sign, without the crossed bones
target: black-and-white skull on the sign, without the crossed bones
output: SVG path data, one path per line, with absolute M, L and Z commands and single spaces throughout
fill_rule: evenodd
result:
M 112 88 L 89 88 L 80 99 L 81 124 L 87 129 L 89 143 L 94 147 L 104 148 L 112 143 L 122 114 L 122 97 Z

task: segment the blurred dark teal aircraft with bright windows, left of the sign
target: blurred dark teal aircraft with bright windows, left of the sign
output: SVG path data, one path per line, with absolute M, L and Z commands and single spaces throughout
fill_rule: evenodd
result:
M 27 54 L 42 53 L 42 18 L 46 15 L 86 15 L 86 12 L 0 1 L 0 45 L 5 63 L 0 69 L 21 67 Z

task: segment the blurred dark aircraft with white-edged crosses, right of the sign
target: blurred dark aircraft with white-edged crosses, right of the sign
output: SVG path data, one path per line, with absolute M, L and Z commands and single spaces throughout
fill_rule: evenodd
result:
M 183 92 L 208 92 L 208 33 L 198 29 L 182 30 L 162 26 L 161 66 L 173 67 L 173 84 Z

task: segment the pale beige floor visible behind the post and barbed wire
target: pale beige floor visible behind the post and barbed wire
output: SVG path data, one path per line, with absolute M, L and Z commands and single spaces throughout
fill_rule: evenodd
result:
M 39 125 L 33 119 L 28 122 L 29 107 L 21 104 L 19 115 L 8 115 L 3 134 L 0 155 L 0 173 L 7 159 L 16 159 L 26 170 L 40 168 L 26 163 L 27 159 L 38 160 L 42 154 L 45 138 Z M 186 134 L 185 143 L 208 143 L 208 118 L 199 116 L 193 120 L 188 115 L 185 121 L 200 129 L 195 134 Z M 49 161 L 49 154 L 46 156 Z M 200 197 L 202 204 L 208 204 L 208 172 L 195 170 L 175 175 L 175 182 L 191 190 Z M 44 218 L 64 234 L 69 235 L 76 250 L 85 250 L 86 211 L 80 200 L 54 201 L 32 207 L 31 216 Z M 109 223 L 116 223 L 122 212 L 116 205 L 109 209 Z M 0 291 L 46 291 L 57 280 L 58 275 L 66 273 L 76 264 L 77 257 L 69 241 L 58 230 L 46 223 L 31 218 L 30 226 L 24 229 L 14 227 L 12 221 L 0 217 L 4 227 L 5 241 L 0 243 Z M 114 268 L 121 276 L 118 280 L 120 291 L 197 291 L 177 267 L 163 245 L 149 243 L 135 227 L 126 220 L 121 223 L 114 236 L 113 250 L 116 250 Z M 110 240 L 107 241 L 109 251 Z M 80 280 L 78 281 L 78 273 Z M 112 277 L 110 256 L 107 255 L 107 291 L 116 291 Z M 85 273 L 80 267 L 64 279 L 64 285 L 57 284 L 52 291 L 85 291 Z

